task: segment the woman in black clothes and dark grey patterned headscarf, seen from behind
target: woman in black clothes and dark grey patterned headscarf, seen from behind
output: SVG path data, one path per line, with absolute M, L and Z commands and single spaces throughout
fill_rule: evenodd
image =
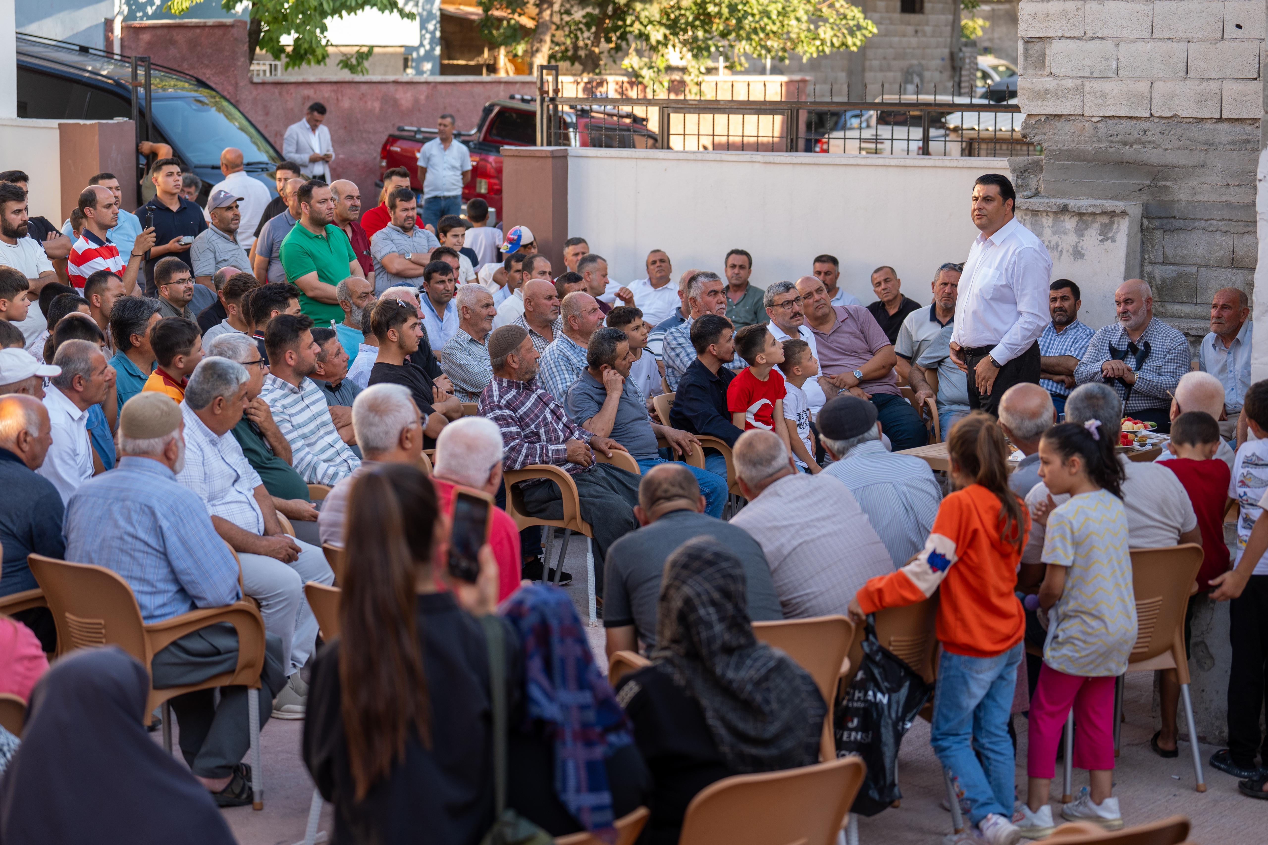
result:
M 652 772 L 640 842 L 677 842 L 687 804 L 715 780 L 819 759 L 827 704 L 804 669 L 753 637 L 746 607 L 743 565 L 716 540 L 666 561 L 653 665 L 616 690 Z

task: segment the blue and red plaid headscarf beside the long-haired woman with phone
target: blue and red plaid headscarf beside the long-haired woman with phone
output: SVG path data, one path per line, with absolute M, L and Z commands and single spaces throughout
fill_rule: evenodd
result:
M 545 723 L 554 740 L 559 801 L 605 841 L 616 840 L 604 760 L 633 742 L 625 711 L 595 665 L 577 609 L 562 589 L 521 587 L 498 608 L 524 644 L 525 720 Z

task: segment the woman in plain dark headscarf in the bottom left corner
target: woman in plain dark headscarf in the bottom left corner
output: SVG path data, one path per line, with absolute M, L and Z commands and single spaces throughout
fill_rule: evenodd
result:
M 0 842 L 233 845 L 210 793 L 146 734 L 148 693 L 115 646 L 53 664 L 0 780 Z

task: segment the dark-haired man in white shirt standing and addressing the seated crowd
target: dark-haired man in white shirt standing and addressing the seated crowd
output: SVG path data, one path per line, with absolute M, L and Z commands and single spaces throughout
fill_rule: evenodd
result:
M 995 414 L 1004 390 L 1038 384 L 1038 337 L 1047 326 L 1052 258 L 1013 217 L 1017 193 L 1007 176 L 973 185 L 970 217 L 981 231 L 960 277 L 951 360 L 969 374 L 969 407 Z

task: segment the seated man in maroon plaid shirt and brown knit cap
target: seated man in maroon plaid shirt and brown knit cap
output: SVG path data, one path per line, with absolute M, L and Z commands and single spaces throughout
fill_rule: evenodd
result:
M 493 380 L 479 397 L 479 416 L 502 431 L 505 470 L 531 464 L 563 469 L 577 485 L 581 518 L 595 532 L 598 560 L 595 562 L 595 593 L 604 594 L 602 560 L 623 535 L 639 527 L 634 518 L 639 476 L 595 460 L 592 448 L 606 456 L 625 451 L 610 437 L 600 437 L 568 419 L 550 393 L 538 381 L 539 353 L 522 326 L 503 326 L 488 338 Z M 521 481 L 529 516 L 563 518 L 563 499 L 555 484 Z M 527 573 L 526 573 L 527 576 Z

